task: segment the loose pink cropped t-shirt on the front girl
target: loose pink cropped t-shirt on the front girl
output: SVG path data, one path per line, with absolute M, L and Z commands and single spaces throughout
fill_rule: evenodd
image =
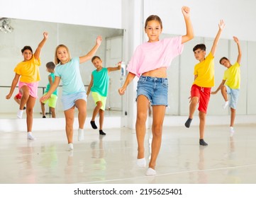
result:
M 167 68 L 172 59 L 182 53 L 183 48 L 182 36 L 165 38 L 158 42 L 144 42 L 136 48 L 127 71 L 139 77 L 147 71 Z

